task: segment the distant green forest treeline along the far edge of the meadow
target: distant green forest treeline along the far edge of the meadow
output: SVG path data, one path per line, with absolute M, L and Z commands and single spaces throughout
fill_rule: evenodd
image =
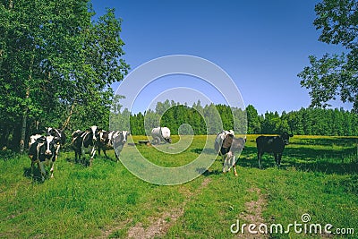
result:
M 251 105 L 244 110 L 214 104 L 203 107 L 200 101 L 188 107 L 166 100 L 158 102 L 155 110 L 144 113 L 131 114 L 127 109 L 112 112 L 110 124 L 113 129 L 131 129 L 135 135 L 150 134 L 158 125 L 168 127 L 172 134 L 215 134 L 234 129 L 236 133 L 250 134 L 358 135 L 358 115 L 342 108 L 301 108 L 281 115 L 277 112 L 259 115 Z

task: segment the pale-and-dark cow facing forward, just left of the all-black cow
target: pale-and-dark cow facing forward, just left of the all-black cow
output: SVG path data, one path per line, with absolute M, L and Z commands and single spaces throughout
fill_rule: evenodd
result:
M 245 138 L 234 138 L 233 131 L 222 131 L 217 134 L 214 148 L 217 154 L 223 157 L 223 172 L 230 171 L 234 167 L 234 175 L 237 176 L 234 152 L 241 152 L 246 142 Z

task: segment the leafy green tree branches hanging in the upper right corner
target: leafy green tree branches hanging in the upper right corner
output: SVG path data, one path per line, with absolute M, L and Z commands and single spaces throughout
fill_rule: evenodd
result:
M 313 21 L 322 30 L 319 40 L 341 44 L 346 52 L 310 55 L 311 66 L 298 76 L 301 85 L 310 89 L 311 106 L 327 107 L 328 100 L 337 96 L 343 102 L 354 103 L 358 112 L 358 2 L 356 0 L 323 0 L 316 4 L 317 18 Z

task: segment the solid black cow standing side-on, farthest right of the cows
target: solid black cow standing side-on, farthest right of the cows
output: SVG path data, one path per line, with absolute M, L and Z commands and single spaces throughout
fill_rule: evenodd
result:
M 261 168 L 261 158 L 265 152 L 273 153 L 277 166 L 280 166 L 282 152 L 284 151 L 285 146 L 288 144 L 290 137 L 294 137 L 294 134 L 288 134 L 287 132 L 284 132 L 277 136 L 259 136 L 256 139 L 259 167 Z

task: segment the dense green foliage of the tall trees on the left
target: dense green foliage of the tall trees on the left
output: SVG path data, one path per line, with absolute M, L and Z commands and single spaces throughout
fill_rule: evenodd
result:
M 108 124 L 110 85 L 129 65 L 122 20 L 95 14 L 89 0 L 0 3 L 0 146 L 38 127 Z

